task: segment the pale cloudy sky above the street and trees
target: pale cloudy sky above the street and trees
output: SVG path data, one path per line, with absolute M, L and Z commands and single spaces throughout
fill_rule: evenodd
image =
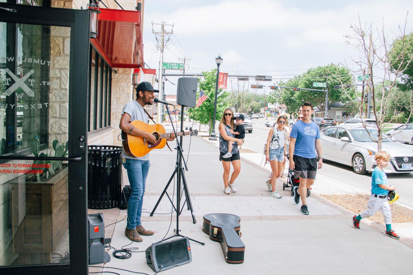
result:
M 358 14 L 362 24 L 381 28 L 384 22 L 392 39 L 400 34 L 398 26 L 404 25 L 409 7 L 410 0 L 146 0 L 144 59 L 152 69 L 159 68 L 151 22 L 164 21 L 175 24 L 164 62 L 190 58 L 186 72 L 200 73 L 216 68 L 215 57 L 221 55 L 220 71 L 287 80 L 312 67 L 359 59 L 358 50 L 344 38 L 352 34 L 350 25 L 358 24 Z M 412 14 L 407 21 L 406 31 L 411 32 Z M 177 77 L 169 80 L 176 83 Z M 176 93 L 176 86 L 167 83 L 165 92 Z

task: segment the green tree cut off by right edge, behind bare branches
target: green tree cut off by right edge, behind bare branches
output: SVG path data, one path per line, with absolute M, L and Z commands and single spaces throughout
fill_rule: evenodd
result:
M 389 53 L 392 71 L 400 70 L 401 79 L 407 89 L 413 89 L 413 33 L 404 38 L 401 37 L 393 42 Z M 404 87 L 402 87 L 403 89 Z

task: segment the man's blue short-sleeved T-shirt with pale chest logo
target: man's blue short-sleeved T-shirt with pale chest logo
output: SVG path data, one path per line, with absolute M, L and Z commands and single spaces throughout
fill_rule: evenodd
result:
M 294 146 L 294 155 L 307 159 L 313 159 L 317 156 L 316 140 L 320 138 L 320 129 L 316 123 L 313 121 L 311 123 L 305 123 L 302 120 L 297 121 L 292 126 L 290 137 L 297 139 Z

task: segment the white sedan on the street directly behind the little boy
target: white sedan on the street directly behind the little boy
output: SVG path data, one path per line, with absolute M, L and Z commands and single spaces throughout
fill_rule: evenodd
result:
M 373 138 L 378 137 L 377 128 L 368 129 Z M 332 126 L 321 130 L 321 146 L 324 159 L 353 167 L 357 174 L 373 171 L 377 143 L 373 142 L 364 127 L 358 125 Z M 382 149 L 390 153 L 390 164 L 385 173 L 413 172 L 413 147 L 383 134 Z

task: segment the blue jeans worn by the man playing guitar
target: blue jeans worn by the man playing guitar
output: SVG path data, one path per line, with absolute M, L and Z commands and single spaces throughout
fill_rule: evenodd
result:
M 145 194 L 146 177 L 151 166 L 149 161 L 140 159 L 125 159 L 123 164 L 128 172 L 128 180 L 131 185 L 131 196 L 128 200 L 128 221 L 126 227 L 134 229 L 141 225 L 143 195 Z

